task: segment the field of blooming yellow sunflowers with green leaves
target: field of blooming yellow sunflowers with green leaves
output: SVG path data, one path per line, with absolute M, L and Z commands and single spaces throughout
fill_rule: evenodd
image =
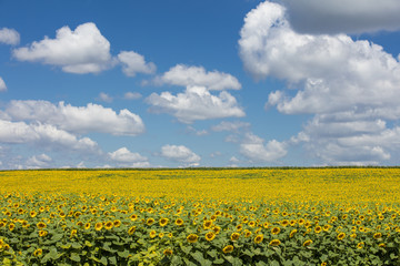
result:
M 400 168 L 0 172 L 2 265 L 400 265 Z

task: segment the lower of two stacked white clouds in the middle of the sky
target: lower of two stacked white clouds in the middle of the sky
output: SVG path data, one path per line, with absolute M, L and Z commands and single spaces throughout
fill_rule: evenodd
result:
M 169 113 L 182 123 L 244 116 L 244 112 L 230 93 L 222 91 L 219 95 L 212 95 L 203 86 L 188 86 L 184 93 L 178 93 L 176 96 L 170 92 L 162 92 L 160 95 L 152 93 L 147 102 L 152 105 L 150 111 Z

